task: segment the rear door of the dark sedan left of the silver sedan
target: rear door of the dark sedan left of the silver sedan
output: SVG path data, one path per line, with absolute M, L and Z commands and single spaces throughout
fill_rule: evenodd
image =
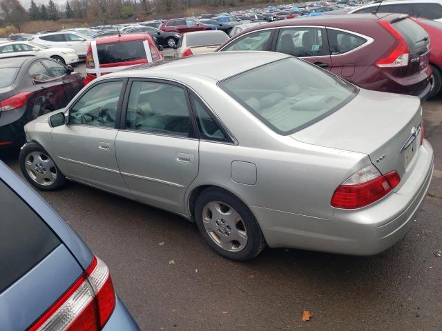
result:
M 32 79 L 36 90 L 30 100 L 31 119 L 66 106 L 68 97 L 61 77 L 54 77 L 40 60 L 30 64 L 28 76 Z

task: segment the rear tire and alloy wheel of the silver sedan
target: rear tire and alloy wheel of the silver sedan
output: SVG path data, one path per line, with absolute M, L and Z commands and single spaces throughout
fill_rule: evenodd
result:
M 258 221 L 247 205 L 221 188 L 208 188 L 200 194 L 195 221 L 211 248 L 227 259 L 253 259 L 265 248 Z

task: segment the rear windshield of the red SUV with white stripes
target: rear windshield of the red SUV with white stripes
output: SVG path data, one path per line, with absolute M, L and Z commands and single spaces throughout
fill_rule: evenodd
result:
M 100 64 L 146 59 L 142 40 L 98 44 L 97 53 Z

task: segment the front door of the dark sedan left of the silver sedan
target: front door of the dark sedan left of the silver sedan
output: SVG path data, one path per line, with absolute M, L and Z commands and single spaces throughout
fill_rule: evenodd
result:
M 57 104 L 55 109 L 66 107 L 68 102 L 72 100 L 75 95 L 83 88 L 83 79 L 78 73 L 70 74 L 68 68 L 61 63 L 52 59 L 43 59 L 41 63 L 48 69 L 52 77 L 57 79 L 60 86 L 64 89 L 66 94 L 66 101 Z

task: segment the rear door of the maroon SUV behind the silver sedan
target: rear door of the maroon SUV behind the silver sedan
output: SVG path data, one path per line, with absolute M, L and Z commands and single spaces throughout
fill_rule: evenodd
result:
M 327 33 L 323 27 L 280 28 L 272 50 L 300 57 L 325 70 L 332 68 Z

